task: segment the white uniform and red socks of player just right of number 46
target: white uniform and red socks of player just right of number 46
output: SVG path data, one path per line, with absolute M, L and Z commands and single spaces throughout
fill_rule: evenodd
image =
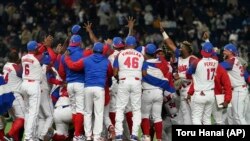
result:
M 158 59 L 148 59 L 147 62 L 149 63 L 159 63 L 160 61 Z M 156 78 L 163 79 L 164 75 L 162 71 L 159 68 L 148 66 L 147 73 L 149 75 L 152 75 Z M 166 80 L 166 79 L 165 79 Z M 144 135 L 149 135 L 149 117 L 152 116 L 152 120 L 154 122 L 155 130 L 156 130 L 156 137 L 157 139 L 161 139 L 162 129 L 158 126 L 158 124 L 162 125 L 162 118 L 161 118 L 161 112 L 162 112 L 162 103 L 163 103 L 163 90 L 160 87 L 153 86 L 147 82 L 142 83 L 142 129 L 144 132 Z M 160 130 L 160 131 L 159 131 Z M 159 134 L 159 135 L 158 135 Z

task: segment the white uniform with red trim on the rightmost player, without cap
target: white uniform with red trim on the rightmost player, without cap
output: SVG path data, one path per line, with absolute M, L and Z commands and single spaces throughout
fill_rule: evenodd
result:
M 227 72 L 233 87 L 232 107 L 228 110 L 228 123 L 247 124 L 245 115 L 248 104 L 248 89 L 244 79 L 244 68 L 237 57 L 231 58 L 228 62 L 232 65 L 232 68 Z

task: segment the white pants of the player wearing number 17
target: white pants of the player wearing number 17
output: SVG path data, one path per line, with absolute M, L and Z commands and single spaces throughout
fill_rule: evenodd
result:
M 215 102 L 214 90 L 195 91 L 191 98 L 192 122 L 194 125 L 211 125 L 211 114 Z

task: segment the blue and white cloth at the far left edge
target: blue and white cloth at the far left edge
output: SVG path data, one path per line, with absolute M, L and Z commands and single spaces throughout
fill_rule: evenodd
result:
M 0 75 L 0 115 L 3 115 L 12 107 L 14 100 L 14 94 L 6 87 L 4 78 Z

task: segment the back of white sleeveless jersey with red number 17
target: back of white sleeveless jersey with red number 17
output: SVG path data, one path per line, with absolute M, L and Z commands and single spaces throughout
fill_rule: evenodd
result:
M 202 58 L 198 61 L 196 71 L 193 74 L 194 89 L 198 91 L 214 89 L 217 67 L 218 61 L 212 58 Z

